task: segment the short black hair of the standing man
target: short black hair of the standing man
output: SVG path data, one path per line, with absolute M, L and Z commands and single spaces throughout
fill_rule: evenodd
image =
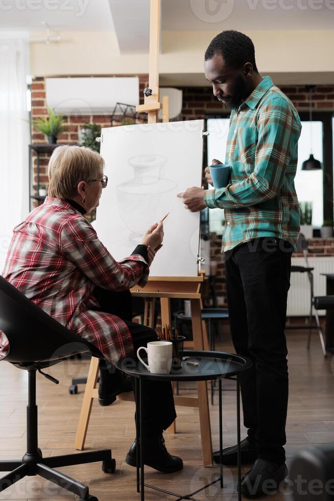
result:
M 226 30 L 215 36 L 206 49 L 204 60 L 212 59 L 215 54 L 221 54 L 231 68 L 240 68 L 250 62 L 257 72 L 254 44 L 240 31 Z

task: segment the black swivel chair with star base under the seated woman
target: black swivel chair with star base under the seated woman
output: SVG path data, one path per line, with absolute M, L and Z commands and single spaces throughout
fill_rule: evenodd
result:
M 0 461 L 0 471 L 9 471 L 0 479 L 0 492 L 25 476 L 40 475 L 46 480 L 77 494 L 80 501 L 98 501 L 89 494 L 88 487 L 53 468 L 102 461 L 105 473 L 115 471 L 111 450 L 97 450 L 67 456 L 43 458 L 38 447 L 36 372 L 66 360 L 78 353 L 90 353 L 103 358 L 102 353 L 86 340 L 73 334 L 0 276 L 0 330 L 9 341 L 9 352 L 2 360 L 18 369 L 28 371 L 27 452 L 19 461 Z

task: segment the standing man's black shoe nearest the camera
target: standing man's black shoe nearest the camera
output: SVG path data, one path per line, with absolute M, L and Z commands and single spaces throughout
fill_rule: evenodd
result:
M 261 495 L 271 495 L 288 475 L 285 463 L 274 463 L 265 459 L 257 459 L 241 480 L 241 493 L 253 498 Z

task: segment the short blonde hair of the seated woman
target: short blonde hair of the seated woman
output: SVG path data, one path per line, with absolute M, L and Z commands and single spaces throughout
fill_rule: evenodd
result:
M 78 194 L 80 181 L 98 178 L 103 168 L 104 160 L 97 151 L 84 146 L 58 146 L 50 157 L 47 169 L 49 196 L 60 200 L 73 198 Z

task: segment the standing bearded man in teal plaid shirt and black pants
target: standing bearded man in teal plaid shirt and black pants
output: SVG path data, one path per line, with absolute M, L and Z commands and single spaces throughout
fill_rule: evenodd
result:
M 213 94 L 231 108 L 225 158 L 230 181 L 226 188 L 188 188 L 178 196 L 191 212 L 225 209 L 222 252 L 231 335 L 236 353 L 253 361 L 241 379 L 248 428 L 241 445 L 242 462 L 254 465 L 241 489 L 254 497 L 269 494 L 288 473 L 284 328 L 291 254 L 300 230 L 294 177 L 301 123 L 287 96 L 258 73 L 253 42 L 243 33 L 214 37 L 204 72 Z M 212 184 L 209 167 L 205 171 Z M 219 462 L 219 452 L 214 460 Z M 236 446 L 223 450 L 224 464 L 236 460 Z

